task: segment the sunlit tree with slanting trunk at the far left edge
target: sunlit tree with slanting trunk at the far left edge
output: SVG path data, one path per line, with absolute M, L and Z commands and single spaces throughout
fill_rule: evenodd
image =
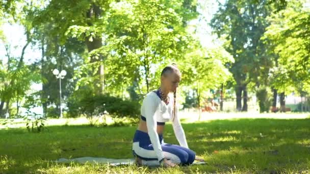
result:
M 24 27 L 26 41 L 25 44 L 22 46 L 19 57 L 11 56 L 10 45 L 5 45 L 8 62 L 7 65 L 4 66 L 4 72 L 6 73 L 6 75 L 5 79 L 3 80 L 4 85 L 0 94 L 0 113 L 3 113 L 4 104 L 6 104 L 6 112 L 8 112 L 10 104 L 13 100 L 17 100 L 18 111 L 18 104 L 21 97 L 26 95 L 25 92 L 30 89 L 32 82 L 39 81 L 37 71 L 35 69 L 32 69 L 30 66 L 25 65 L 24 63 L 25 50 L 29 47 L 33 39 L 33 33 L 31 31 L 31 21 L 29 20 L 29 16 L 31 16 L 29 15 L 31 14 L 29 8 L 32 8 L 33 6 L 27 7 L 24 6 L 25 3 L 19 3 L 22 9 L 16 9 L 15 11 L 15 3 L 16 2 L 12 1 L 12 4 L 7 4 L 10 6 L 10 8 L 8 8 L 9 14 L 7 15 L 10 16 L 12 14 L 15 14 L 13 15 L 14 21 Z M 10 19 L 7 20 L 9 21 Z M 30 70 L 33 70 L 33 73 L 30 73 Z

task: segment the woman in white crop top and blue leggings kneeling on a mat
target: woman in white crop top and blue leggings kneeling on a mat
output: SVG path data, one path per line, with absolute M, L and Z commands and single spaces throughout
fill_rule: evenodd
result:
M 175 103 L 179 81 L 179 70 L 175 66 L 165 67 L 161 73 L 160 89 L 148 93 L 143 100 L 141 120 L 133 139 L 133 153 L 140 165 L 173 167 L 176 164 L 191 164 L 195 159 L 203 161 L 188 148 L 177 115 Z M 165 122 L 169 120 L 180 146 L 164 143 Z

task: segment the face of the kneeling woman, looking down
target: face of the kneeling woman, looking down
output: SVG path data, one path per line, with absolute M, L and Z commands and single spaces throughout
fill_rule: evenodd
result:
M 178 87 L 179 82 L 180 75 L 178 73 L 172 72 L 167 74 L 166 76 L 162 76 L 162 84 L 169 92 L 174 92 Z

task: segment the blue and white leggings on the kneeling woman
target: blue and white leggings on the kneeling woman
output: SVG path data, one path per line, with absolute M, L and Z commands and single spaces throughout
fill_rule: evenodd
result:
M 182 165 L 192 164 L 196 153 L 190 149 L 174 144 L 163 143 L 163 136 L 159 135 L 163 154 L 166 159 Z M 134 137 L 133 153 L 144 160 L 145 165 L 157 165 L 157 155 L 153 149 L 147 133 L 137 130 Z

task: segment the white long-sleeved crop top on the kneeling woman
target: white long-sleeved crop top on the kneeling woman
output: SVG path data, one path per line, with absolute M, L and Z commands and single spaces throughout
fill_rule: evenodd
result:
M 143 100 L 141 115 L 146 119 L 147 132 L 158 160 L 164 158 L 163 150 L 157 133 L 157 122 L 172 122 L 174 134 L 180 146 L 188 148 L 185 133 L 177 117 L 178 109 L 173 119 L 173 97 L 169 97 L 169 104 L 166 105 L 154 92 L 149 92 Z

